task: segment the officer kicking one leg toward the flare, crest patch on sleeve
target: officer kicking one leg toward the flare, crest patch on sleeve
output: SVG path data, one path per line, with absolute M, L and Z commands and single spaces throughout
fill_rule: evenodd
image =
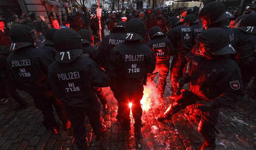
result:
M 202 115 L 198 131 L 204 139 L 201 150 L 214 150 L 214 126 L 219 108 L 233 108 L 238 102 L 243 95 L 242 77 L 238 64 L 229 58 L 236 50 L 229 44 L 229 35 L 223 29 L 207 29 L 195 41 L 199 45 L 196 53 L 202 56 L 193 57 L 188 74 L 178 84 L 182 87 L 190 82 L 190 89 L 182 92 L 157 120 L 171 120 L 174 114 L 198 102 L 201 105 L 197 109 Z

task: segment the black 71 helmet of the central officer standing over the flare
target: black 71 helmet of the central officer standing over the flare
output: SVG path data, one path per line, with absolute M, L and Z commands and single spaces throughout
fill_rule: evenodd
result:
M 143 21 L 138 18 L 130 19 L 125 28 L 125 34 L 123 38 L 125 40 L 145 40 L 146 36 L 146 27 Z

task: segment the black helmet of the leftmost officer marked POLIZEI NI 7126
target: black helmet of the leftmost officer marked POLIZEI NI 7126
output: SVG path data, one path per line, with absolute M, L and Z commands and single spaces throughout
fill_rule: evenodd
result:
M 19 48 L 32 45 L 35 42 L 33 33 L 34 30 L 29 26 L 22 24 L 13 26 L 9 31 L 10 39 L 12 41 L 10 51 L 12 52 Z

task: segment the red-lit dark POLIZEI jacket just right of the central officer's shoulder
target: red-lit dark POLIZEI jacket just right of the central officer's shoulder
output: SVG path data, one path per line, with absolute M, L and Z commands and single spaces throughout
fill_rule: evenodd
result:
M 165 37 L 155 37 L 147 42 L 154 55 L 156 56 L 156 64 L 170 61 L 170 55 L 174 54 L 174 48 L 171 41 Z

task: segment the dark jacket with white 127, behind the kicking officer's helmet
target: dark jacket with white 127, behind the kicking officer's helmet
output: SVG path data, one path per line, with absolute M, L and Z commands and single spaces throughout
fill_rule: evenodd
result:
M 167 33 L 173 44 L 174 51 L 191 50 L 195 45 L 195 34 L 193 28 L 185 26 L 184 24 L 175 26 Z

